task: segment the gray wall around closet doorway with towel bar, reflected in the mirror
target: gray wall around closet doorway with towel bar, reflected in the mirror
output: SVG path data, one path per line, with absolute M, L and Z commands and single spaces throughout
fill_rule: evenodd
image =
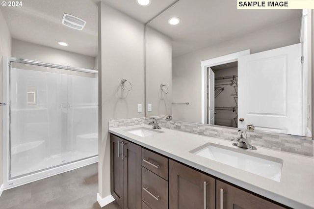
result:
M 190 104 L 173 106 L 173 120 L 201 123 L 201 61 L 247 49 L 256 53 L 299 43 L 300 24 L 300 18 L 293 19 L 174 58 L 173 101 Z

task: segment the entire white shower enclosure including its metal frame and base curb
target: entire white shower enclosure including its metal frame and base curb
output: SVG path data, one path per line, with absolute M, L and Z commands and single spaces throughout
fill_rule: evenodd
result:
M 98 71 L 3 58 L 4 189 L 98 161 Z

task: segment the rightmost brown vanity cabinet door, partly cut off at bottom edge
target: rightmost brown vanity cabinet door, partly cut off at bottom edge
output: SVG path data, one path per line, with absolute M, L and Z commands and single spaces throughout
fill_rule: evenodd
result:
M 233 185 L 216 182 L 217 209 L 285 209 Z

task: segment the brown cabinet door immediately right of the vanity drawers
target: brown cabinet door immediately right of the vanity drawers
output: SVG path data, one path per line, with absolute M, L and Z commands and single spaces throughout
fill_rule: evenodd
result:
M 215 179 L 169 160 L 169 209 L 214 209 Z

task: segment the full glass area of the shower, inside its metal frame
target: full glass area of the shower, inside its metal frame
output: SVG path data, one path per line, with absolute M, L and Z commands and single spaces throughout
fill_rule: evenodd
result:
M 49 71 L 11 68 L 10 179 L 98 155 L 98 76 Z

